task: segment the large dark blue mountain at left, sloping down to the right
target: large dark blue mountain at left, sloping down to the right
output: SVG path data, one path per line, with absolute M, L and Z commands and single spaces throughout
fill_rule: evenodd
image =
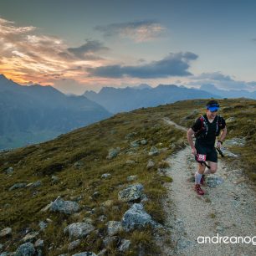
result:
M 84 96 L 51 86 L 23 86 L 0 76 L 0 149 L 54 138 L 111 115 Z

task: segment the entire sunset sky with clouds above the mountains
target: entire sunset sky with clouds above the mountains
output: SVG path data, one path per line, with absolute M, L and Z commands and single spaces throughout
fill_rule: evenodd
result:
M 1 0 L 0 74 L 102 86 L 256 90 L 256 1 Z

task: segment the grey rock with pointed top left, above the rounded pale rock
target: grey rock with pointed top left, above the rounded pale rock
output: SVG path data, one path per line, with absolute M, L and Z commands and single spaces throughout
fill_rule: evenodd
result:
M 79 204 L 73 201 L 64 201 L 60 197 L 50 205 L 52 212 L 64 212 L 65 214 L 72 214 L 79 211 Z

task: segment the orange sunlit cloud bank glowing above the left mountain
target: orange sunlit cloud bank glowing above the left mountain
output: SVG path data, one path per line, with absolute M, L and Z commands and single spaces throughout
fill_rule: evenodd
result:
M 0 74 L 20 84 L 30 81 L 53 84 L 59 74 L 78 77 L 84 74 L 84 70 L 77 69 L 78 65 L 97 66 L 103 59 L 98 54 L 108 50 L 97 40 L 70 47 L 62 38 L 39 34 L 35 27 L 19 27 L 3 18 L 0 18 L 0 44 Z

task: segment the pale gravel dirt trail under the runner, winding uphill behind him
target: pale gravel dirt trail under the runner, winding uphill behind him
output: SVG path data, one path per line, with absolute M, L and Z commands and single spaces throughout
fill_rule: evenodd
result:
M 166 118 L 164 121 L 176 125 Z M 185 127 L 176 127 L 187 131 Z M 162 246 L 163 255 L 256 255 L 253 187 L 246 182 L 242 170 L 234 170 L 218 160 L 218 172 L 207 176 L 208 185 L 202 187 L 206 194 L 198 196 L 193 191 L 197 163 L 190 147 L 168 158 L 171 167 L 166 175 L 172 177 L 173 182 L 166 184 L 168 195 L 163 206 L 172 243 L 170 247 Z M 212 239 L 214 236 L 211 243 L 197 243 L 197 237 Z M 212 243 L 224 236 L 228 236 L 226 243 Z M 234 236 L 241 238 L 230 238 Z

